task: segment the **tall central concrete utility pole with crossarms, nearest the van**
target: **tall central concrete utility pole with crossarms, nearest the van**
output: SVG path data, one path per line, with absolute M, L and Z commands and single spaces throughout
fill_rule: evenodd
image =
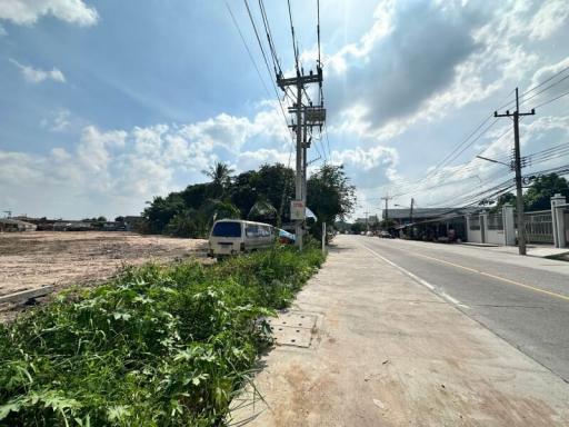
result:
M 289 108 L 289 112 L 296 113 L 297 122 L 291 127 L 297 133 L 297 161 L 296 161 L 296 176 L 295 176 L 295 200 L 302 201 L 306 212 L 307 196 L 306 196 L 306 148 L 309 147 L 309 142 L 306 141 L 302 133 L 307 133 L 306 128 L 308 126 L 320 126 L 326 119 L 326 110 L 323 106 L 319 107 L 303 107 L 302 106 L 302 90 L 306 85 L 310 83 L 322 83 L 322 68 L 320 64 L 317 66 L 317 73 L 310 71 L 309 75 L 305 76 L 300 72 L 297 67 L 297 77 L 284 78 L 281 73 L 277 76 L 277 85 L 287 92 L 287 87 L 293 86 L 297 88 L 297 100 L 295 105 Z M 305 142 L 303 142 L 305 139 Z M 303 222 L 305 218 L 295 220 L 295 234 L 296 244 L 302 249 L 302 235 L 303 235 Z

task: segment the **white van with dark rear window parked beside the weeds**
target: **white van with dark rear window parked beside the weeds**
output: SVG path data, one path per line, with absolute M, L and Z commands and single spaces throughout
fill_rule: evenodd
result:
M 270 248 L 274 244 L 274 227 L 242 219 L 220 219 L 209 235 L 209 257 L 221 257 Z

